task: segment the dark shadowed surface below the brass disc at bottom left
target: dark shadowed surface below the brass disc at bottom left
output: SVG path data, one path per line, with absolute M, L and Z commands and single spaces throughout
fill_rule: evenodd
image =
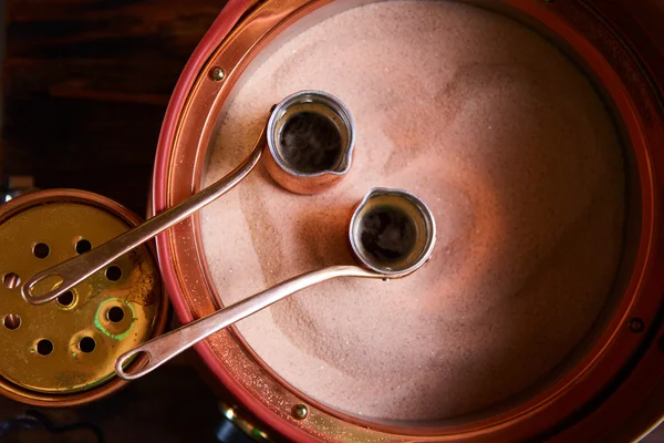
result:
M 194 368 L 183 364 L 165 365 L 77 408 L 34 408 L 0 396 L 3 443 L 214 443 L 221 420 L 217 398 Z

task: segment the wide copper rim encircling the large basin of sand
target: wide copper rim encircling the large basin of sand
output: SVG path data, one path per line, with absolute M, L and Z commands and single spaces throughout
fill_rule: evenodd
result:
M 339 3 L 229 2 L 194 53 L 172 97 L 155 164 L 155 210 L 184 200 L 198 188 L 217 115 L 251 60 L 301 18 Z M 661 86 L 652 79 L 657 78 L 653 70 L 664 71 L 664 49 L 641 27 L 634 27 L 637 16 L 625 14 L 633 8 L 627 1 L 608 7 L 599 3 L 504 2 L 523 21 L 558 35 L 603 85 L 620 115 L 637 169 L 640 225 L 634 265 L 613 317 L 590 351 L 552 385 L 505 412 L 463 424 L 423 427 L 363 422 L 329 410 L 262 368 L 232 330 L 199 343 L 196 349 L 206 364 L 263 423 L 297 441 L 578 441 L 596 439 L 619 426 L 655 387 L 662 387 L 664 349 L 658 350 L 656 343 L 664 340 L 664 278 L 656 270 L 664 261 L 664 245 L 655 222 L 662 206 L 657 174 L 664 171 L 664 157 L 657 152 L 657 142 L 664 140 L 664 113 L 658 99 L 662 90 L 656 90 Z M 643 8 L 644 20 L 664 13 L 654 2 Z M 650 25 L 653 33 L 663 34 L 656 19 Z M 225 72 L 222 81 L 209 75 L 215 69 Z M 162 234 L 157 249 L 165 284 L 183 322 L 218 308 L 201 259 L 197 217 Z M 631 319 L 640 319 L 643 330 L 634 332 Z M 293 405 L 300 403 L 309 406 L 307 420 L 291 415 Z

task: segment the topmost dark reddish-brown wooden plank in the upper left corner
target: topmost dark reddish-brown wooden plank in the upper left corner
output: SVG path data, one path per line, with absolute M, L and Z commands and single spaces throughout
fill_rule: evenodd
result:
M 110 3 L 114 3 L 112 8 Z M 8 4 L 7 54 L 38 58 L 188 56 L 222 2 Z

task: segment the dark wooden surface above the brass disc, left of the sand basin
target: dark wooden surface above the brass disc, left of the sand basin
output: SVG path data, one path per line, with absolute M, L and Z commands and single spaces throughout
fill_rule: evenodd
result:
M 168 99 L 224 3 L 6 0 L 0 174 L 144 216 Z

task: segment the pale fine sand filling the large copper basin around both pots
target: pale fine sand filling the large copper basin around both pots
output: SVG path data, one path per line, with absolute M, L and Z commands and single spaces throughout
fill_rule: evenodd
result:
M 350 176 L 290 194 L 263 168 L 203 214 L 225 303 L 351 262 L 373 186 L 421 196 L 434 258 L 401 281 L 330 281 L 239 323 L 283 379 L 367 418 L 440 419 L 540 379 L 605 301 L 621 248 L 619 142 L 589 81 L 516 22 L 446 2 L 374 3 L 280 48 L 222 116 L 206 184 L 239 164 L 270 105 L 320 89 L 357 128 Z

